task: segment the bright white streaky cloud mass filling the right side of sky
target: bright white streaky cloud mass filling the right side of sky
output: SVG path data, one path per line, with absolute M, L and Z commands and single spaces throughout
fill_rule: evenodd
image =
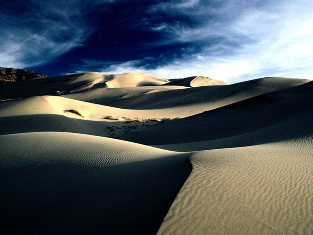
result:
M 181 8 L 179 4 L 162 3 L 151 9 L 172 14 L 171 9 L 176 8 L 177 13 Z M 198 2 L 195 4 L 199 5 Z M 209 16 L 199 16 L 202 23 L 196 27 L 161 22 L 151 28 L 175 35 L 172 40 L 176 42 L 207 41 L 200 52 L 176 58 L 154 69 L 137 66 L 140 63 L 134 60 L 111 64 L 102 71 L 133 70 L 166 78 L 203 75 L 229 82 L 262 76 L 313 78 L 311 1 L 279 1 L 264 5 L 254 2 L 233 6 L 229 1 L 218 7 L 202 5 L 201 9 L 196 8 L 198 14 L 205 12 Z

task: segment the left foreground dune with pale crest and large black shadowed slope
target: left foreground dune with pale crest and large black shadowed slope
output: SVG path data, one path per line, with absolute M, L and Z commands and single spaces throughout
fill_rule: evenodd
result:
M 2 231 L 153 234 L 191 171 L 186 154 L 110 138 L 0 136 Z

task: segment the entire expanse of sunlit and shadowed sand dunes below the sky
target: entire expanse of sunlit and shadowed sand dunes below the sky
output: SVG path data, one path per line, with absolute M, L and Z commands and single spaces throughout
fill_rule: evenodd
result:
M 0 86 L 4 234 L 313 233 L 313 81 Z

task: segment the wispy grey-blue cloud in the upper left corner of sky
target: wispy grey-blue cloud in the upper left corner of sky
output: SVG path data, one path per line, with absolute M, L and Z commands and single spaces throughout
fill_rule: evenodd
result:
M 82 46 L 95 30 L 85 15 L 96 4 L 100 2 L 33 0 L 2 6 L 0 65 L 41 65 Z

